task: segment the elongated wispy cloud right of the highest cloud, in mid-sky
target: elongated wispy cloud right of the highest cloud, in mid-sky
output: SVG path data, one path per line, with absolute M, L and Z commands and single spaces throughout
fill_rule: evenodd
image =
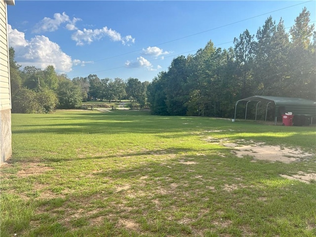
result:
M 77 32 L 72 35 L 71 39 L 77 42 L 76 45 L 82 46 L 85 43 L 90 44 L 94 40 L 100 40 L 105 36 L 109 37 L 112 41 L 121 41 L 122 44 L 135 42 L 135 39 L 132 38 L 132 36 L 121 37 L 117 31 L 112 30 L 111 28 L 109 29 L 108 27 L 94 30 L 85 28 L 83 31 L 77 30 Z

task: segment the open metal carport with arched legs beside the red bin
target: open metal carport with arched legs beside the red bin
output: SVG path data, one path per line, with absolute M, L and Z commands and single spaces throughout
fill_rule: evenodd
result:
M 300 98 L 290 98 L 290 97 L 276 97 L 276 96 L 261 96 L 255 95 L 251 96 L 242 100 L 238 100 L 235 105 L 235 117 L 236 120 L 236 111 L 237 111 L 237 104 L 240 101 L 246 101 L 246 110 L 245 110 L 245 120 L 247 118 L 247 106 L 249 102 L 257 102 L 256 105 L 256 118 L 257 118 L 257 109 L 258 104 L 260 102 L 267 102 L 267 109 L 266 109 L 266 119 L 267 120 L 267 111 L 269 104 L 275 105 L 275 123 L 277 120 L 277 116 L 280 116 L 287 112 L 292 112 L 295 115 L 304 115 L 311 117 L 311 123 L 313 123 L 313 117 L 316 117 L 316 101 L 312 100 L 305 100 Z

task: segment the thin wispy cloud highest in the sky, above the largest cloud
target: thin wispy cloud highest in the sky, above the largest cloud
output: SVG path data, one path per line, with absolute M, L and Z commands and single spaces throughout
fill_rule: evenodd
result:
M 33 33 L 40 33 L 40 32 L 46 32 L 46 31 L 56 31 L 58 27 L 62 23 L 68 23 L 66 25 L 66 29 L 73 31 L 77 30 L 78 28 L 76 27 L 76 22 L 80 21 L 80 18 L 74 17 L 73 20 L 70 19 L 70 17 L 63 12 L 62 14 L 60 13 L 55 13 L 54 18 L 51 19 L 49 17 L 44 17 L 39 23 L 35 25 L 35 29 L 33 30 Z

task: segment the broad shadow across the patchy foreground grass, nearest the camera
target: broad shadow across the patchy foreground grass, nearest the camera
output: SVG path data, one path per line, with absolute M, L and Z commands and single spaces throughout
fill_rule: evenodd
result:
M 216 149 L 214 150 L 216 152 Z M 62 178 L 58 172 L 60 170 L 56 170 L 38 179 L 57 180 L 54 183 L 56 187 L 65 186 L 65 183 L 75 184 L 75 193 L 67 197 L 56 197 L 58 194 L 54 196 L 49 193 L 51 196 L 45 196 L 45 199 L 33 199 L 31 203 L 34 212 L 29 219 L 23 217 L 13 224 L 6 220 L 6 232 L 8 235 L 17 233 L 18 236 L 32 232 L 38 236 L 67 236 L 64 235 L 66 233 L 71 236 L 71 233 L 76 233 L 76 230 L 69 228 L 71 215 L 74 220 L 84 217 L 87 223 L 96 217 L 101 217 L 101 220 L 112 217 L 113 226 L 119 223 L 119 219 L 131 219 L 140 225 L 143 233 L 146 233 L 146 230 L 150 232 L 149 236 L 183 236 L 181 228 L 178 228 L 178 223 L 182 220 L 186 221 L 186 226 L 199 233 L 209 228 L 220 232 L 223 226 L 214 227 L 213 224 L 228 220 L 235 230 L 243 230 L 244 226 L 249 226 L 251 231 L 258 235 L 277 235 L 279 230 L 284 232 L 292 224 L 299 223 L 295 218 L 312 220 L 311 207 L 315 206 L 316 194 L 313 186 L 287 182 L 278 176 L 282 169 L 286 170 L 294 167 L 293 165 L 253 163 L 247 158 L 237 158 L 233 155 L 199 156 L 198 152 L 197 149 L 175 148 L 104 157 L 61 159 L 59 161 L 74 162 L 67 163 L 67 167 L 56 166 L 56 169 L 68 169 L 81 164 L 91 167 L 85 172 L 80 169 L 74 173 L 69 171 Z M 157 160 L 142 160 L 143 156 L 148 155 L 157 156 Z M 138 160 L 137 157 L 141 158 Z M 118 161 L 118 165 L 109 168 L 105 161 L 107 158 L 121 160 L 113 159 Z M 128 162 L 128 158 L 132 160 Z M 98 172 L 94 172 L 95 168 L 92 166 L 96 164 L 99 165 Z M 30 182 L 36 183 L 34 179 L 37 177 Z M 81 180 L 86 182 L 79 182 Z M 6 204 L 8 208 L 13 207 L 14 203 L 8 200 Z M 14 208 L 21 208 L 21 205 Z M 155 213 L 155 217 L 151 216 L 151 213 Z M 292 213 L 296 213 L 295 218 Z M 177 219 L 179 214 L 181 218 Z M 141 218 L 148 221 L 147 229 L 141 225 Z M 282 225 L 274 218 L 283 218 L 289 220 L 289 223 Z M 158 219 L 159 228 L 155 228 L 155 222 L 151 222 L 153 219 Z M 50 223 L 47 223 L 48 220 Z M 262 220 L 269 225 L 262 223 Z M 253 225 L 254 222 L 256 226 Z M 57 224 L 58 228 L 49 228 L 50 225 Z M 94 228 L 101 229 L 104 225 L 104 221 L 99 222 Z M 17 229 L 19 226 L 21 228 Z M 267 230 L 257 230 L 258 226 Z M 126 234 L 128 229 L 125 229 Z M 112 231 L 116 232 L 112 236 L 121 234 L 118 228 Z

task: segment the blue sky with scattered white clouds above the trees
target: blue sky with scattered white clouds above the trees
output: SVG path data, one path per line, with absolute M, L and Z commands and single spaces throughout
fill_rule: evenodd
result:
M 315 22 L 316 0 L 15 0 L 7 6 L 9 46 L 21 69 L 152 81 L 209 40 L 227 49 L 246 29 L 256 35 L 269 16 L 289 31 L 304 7 Z

